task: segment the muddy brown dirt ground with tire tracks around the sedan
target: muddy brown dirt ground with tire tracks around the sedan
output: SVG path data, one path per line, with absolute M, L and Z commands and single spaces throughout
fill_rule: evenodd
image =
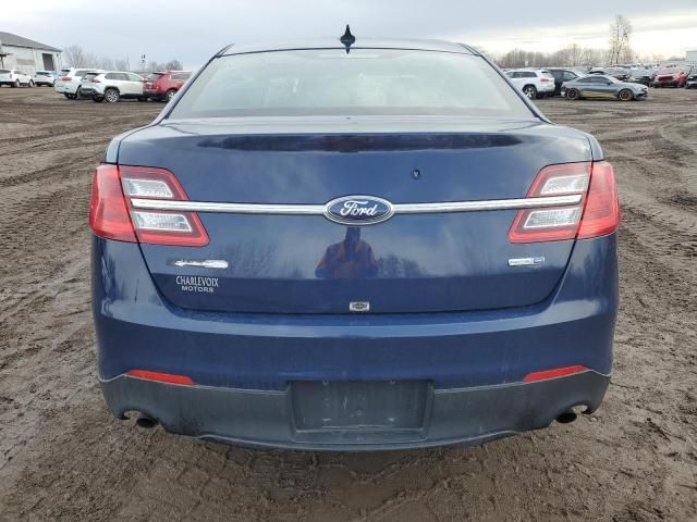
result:
M 613 382 L 594 415 L 466 449 L 258 451 L 112 419 L 89 311 L 90 174 L 159 103 L 0 89 L 0 520 L 697 520 L 697 91 L 542 100 L 623 203 Z

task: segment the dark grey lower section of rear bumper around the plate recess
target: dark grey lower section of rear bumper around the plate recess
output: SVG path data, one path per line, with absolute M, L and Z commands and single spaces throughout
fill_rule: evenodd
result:
M 546 427 L 575 406 L 592 412 L 608 384 L 609 376 L 587 371 L 535 383 L 429 389 L 429 406 L 418 428 L 298 430 L 289 390 L 183 386 L 126 375 L 101 383 L 118 418 L 135 410 L 181 435 L 252 447 L 331 451 L 481 444 Z

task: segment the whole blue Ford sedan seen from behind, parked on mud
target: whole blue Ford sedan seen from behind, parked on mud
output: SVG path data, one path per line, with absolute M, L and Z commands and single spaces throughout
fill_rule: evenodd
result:
M 610 378 L 619 221 L 597 141 L 470 47 L 227 47 L 96 170 L 106 401 L 307 450 L 572 421 Z

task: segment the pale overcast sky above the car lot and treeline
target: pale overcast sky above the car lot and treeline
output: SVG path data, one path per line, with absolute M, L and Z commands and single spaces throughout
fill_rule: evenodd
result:
M 697 49 L 697 0 L 2 0 L 0 30 L 56 47 L 188 67 L 231 42 L 360 36 L 443 38 L 489 51 L 604 47 L 624 14 L 643 55 Z

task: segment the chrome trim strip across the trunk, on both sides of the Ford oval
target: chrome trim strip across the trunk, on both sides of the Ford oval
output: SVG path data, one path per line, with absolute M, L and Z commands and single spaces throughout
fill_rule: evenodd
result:
M 394 214 L 436 214 L 443 212 L 478 212 L 485 210 L 517 210 L 538 207 L 578 204 L 583 196 L 545 196 L 540 198 L 490 199 L 439 203 L 393 203 Z M 207 201 L 170 201 L 167 199 L 132 198 L 136 209 L 178 210 L 180 212 L 222 212 L 229 214 L 325 215 L 325 204 L 217 203 Z

